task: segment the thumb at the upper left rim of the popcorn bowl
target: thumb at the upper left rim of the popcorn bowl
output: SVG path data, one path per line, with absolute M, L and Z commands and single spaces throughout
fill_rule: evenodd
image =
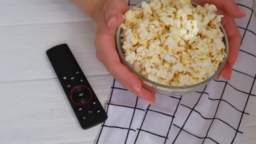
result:
M 122 14 L 125 13 L 129 7 L 125 0 L 108 0 L 103 9 L 107 26 L 114 29 L 120 26 L 123 20 Z

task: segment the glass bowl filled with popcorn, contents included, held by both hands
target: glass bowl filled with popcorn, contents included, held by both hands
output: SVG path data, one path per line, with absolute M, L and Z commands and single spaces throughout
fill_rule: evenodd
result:
M 154 92 L 182 95 L 211 82 L 229 53 L 215 5 L 190 0 L 143 1 L 117 29 L 122 63 Z

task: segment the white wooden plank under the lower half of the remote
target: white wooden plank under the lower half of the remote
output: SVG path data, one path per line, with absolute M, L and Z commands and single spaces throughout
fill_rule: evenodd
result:
M 88 77 L 105 107 L 111 75 Z M 80 128 L 57 79 L 1 82 L 0 143 L 50 144 L 94 141 L 100 125 Z

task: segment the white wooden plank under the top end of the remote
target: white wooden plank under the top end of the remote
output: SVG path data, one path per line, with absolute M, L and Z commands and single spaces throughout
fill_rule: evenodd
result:
M 96 59 L 93 21 L 0 27 L 0 81 L 56 78 L 45 54 L 67 43 L 85 75 L 107 75 Z

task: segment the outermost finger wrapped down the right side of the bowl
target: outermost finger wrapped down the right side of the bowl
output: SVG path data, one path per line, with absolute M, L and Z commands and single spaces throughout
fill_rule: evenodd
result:
M 229 40 L 229 56 L 227 61 L 233 66 L 239 53 L 242 38 L 234 18 L 227 13 L 223 13 L 223 11 L 219 11 L 219 13 L 224 14 L 221 24 L 223 25 Z

